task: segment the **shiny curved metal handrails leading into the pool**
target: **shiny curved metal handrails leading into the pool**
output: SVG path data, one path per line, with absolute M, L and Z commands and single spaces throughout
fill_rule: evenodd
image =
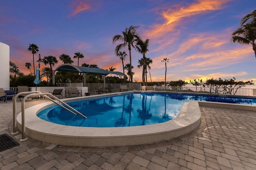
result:
M 84 116 L 82 113 L 78 112 L 76 109 L 72 108 L 71 106 L 69 106 L 68 104 L 66 104 L 64 101 L 61 101 L 60 99 L 58 99 L 56 96 L 52 95 L 51 93 L 41 93 L 40 91 L 29 91 L 29 92 L 21 92 L 18 93 L 17 95 L 15 95 L 12 99 L 13 102 L 13 133 L 11 133 L 12 135 L 17 134 L 17 114 L 16 114 L 16 99 L 18 98 L 18 96 L 20 95 L 26 95 L 24 97 L 24 99 L 22 100 L 21 103 L 21 119 L 22 119 L 22 139 L 20 139 L 20 141 L 24 141 L 27 140 L 28 138 L 25 137 L 25 101 L 28 97 L 38 97 L 38 95 L 40 96 L 44 96 L 45 98 L 49 99 L 50 101 L 52 101 L 53 103 L 56 103 L 57 105 L 59 105 L 60 107 L 62 107 L 63 109 L 66 109 L 67 111 L 69 111 L 70 113 L 74 114 L 74 115 L 80 115 L 84 118 L 87 118 L 86 116 Z M 50 98 L 52 97 L 52 98 Z M 55 100 L 56 101 L 55 101 Z M 66 107 L 65 107 L 65 106 Z M 77 113 L 77 114 L 76 114 Z

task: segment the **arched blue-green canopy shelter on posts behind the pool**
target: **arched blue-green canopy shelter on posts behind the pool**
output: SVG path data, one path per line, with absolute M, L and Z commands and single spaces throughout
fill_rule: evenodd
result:
M 76 66 L 76 65 L 72 65 L 72 64 L 62 64 L 62 65 L 58 66 L 55 70 L 52 71 L 52 84 L 53 85 L 55 84 L 55 71 L 69 71 L 69 72 L 74 72 L 74 73 L 104 75 L 104 83 L 105 83 L 105 77 L 108 74 L 126 76 L 124 73 L 121 73 L 119 71 L 108 71 L 108 70 L 104 70 L 104 69 L 100 69 L 100 68 L 90 68 L 90 67 Z M 84 83 L 85 83 L 85 79 L 84 79 Z

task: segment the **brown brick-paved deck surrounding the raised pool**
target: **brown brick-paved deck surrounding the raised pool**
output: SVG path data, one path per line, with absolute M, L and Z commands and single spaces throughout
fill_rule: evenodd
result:
M 29 99 L 26 108 L 46 101 Z M 17 100 L 17 113 L 20 106 Z M 0 134 L 10 135 L 12 102 L 0 102 L 0 110 Z M 201 123 L 195 130 L 134 146 L 62 146 L 32 138 L 19 142 L 19 133 L 13 137 L 20 145 L 0 152 L 0 169 L 256 169 L 256 112 L 212 106 L 200 106 L 200 112 Z

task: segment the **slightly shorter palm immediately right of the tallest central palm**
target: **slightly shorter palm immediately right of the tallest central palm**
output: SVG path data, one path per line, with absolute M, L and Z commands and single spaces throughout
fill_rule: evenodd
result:
M 139 53 L 143 55 L 142 60 L 142 83 L 145 85 L 145 70 L 146 70 L 146 53 L 148 52 L 148 46 L 149 46 L 149 39 L 146 39 L 143 41 L 142 39 L 139 39 L 136 44 L 136 49 Z

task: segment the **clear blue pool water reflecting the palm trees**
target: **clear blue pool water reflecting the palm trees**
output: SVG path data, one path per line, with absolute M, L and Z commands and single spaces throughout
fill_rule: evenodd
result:
M 59 106 L 44 109 L 38 117 L 61 125 L 78 127 L 130 127 L 163 123 L 176 117 L 185 101 L 215 101 L 256 105 L 256 99 L 210 97 L 166 93 L 132 93 L 68 103 L 88 117 Z

